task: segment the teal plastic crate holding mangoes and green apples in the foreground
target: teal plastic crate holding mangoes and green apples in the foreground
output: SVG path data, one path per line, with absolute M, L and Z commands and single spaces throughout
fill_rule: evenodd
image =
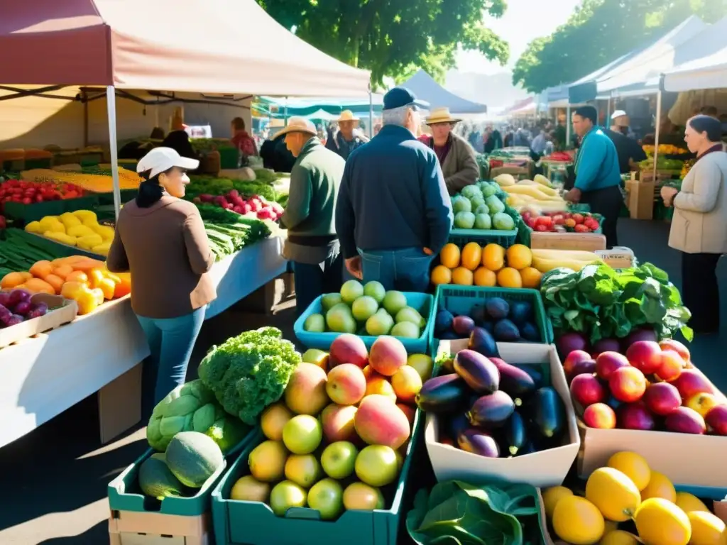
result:
M 257 501 L 230 499 L 230 490 L 240 477 L 249 475 L 250 451 L 264 437 L 250 443 L 212 491 L 212 525 L 217 545 L 396 545 L 409 472 L 414 456 L 424 451 L 424 415 L 414 416 L 411 441 L 406 448 L 398 481 L 382 488 L 386 509 L 345 511 L 337 520 L 321 520 L 318 511 L 293 507 L 284 517 Z M 342 483 L 348 484 L 348 483 Z

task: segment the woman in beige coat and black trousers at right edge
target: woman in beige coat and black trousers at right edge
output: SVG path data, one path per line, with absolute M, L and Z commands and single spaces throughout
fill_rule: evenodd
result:
M 669 246 L 682 252 L 682 298 L 691 310 L 689 326 L 698 334 L 720 330 L 717 263 L 727 253 L 727 153 L 722 125 L 709 116 L 687 122 L 684 141 L 697 159 L 681 190 L 662 187 L 667 206 L 674 206 Z

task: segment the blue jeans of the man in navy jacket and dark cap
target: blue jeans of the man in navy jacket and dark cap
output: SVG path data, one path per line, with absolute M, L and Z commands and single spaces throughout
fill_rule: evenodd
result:
M 424 293 L 429 288 L 429 266 L 433 256 L 427 256 L 421 248 L 398 250 L 363 251 L 361 266 L 364 283 L 377 280 L 387 290 L 415 291 Z

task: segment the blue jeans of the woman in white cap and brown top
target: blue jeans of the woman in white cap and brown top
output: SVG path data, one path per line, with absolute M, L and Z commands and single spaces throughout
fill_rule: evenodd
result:
M 187 366 L 199 330 L 204 322 L 206 307 L 178 318 L 146 318 L 137 315 L 149 343 L 151 354 L 144 364 L 142 391 L 148 400 L 150 385 L 154 386 L 152 407 L 187 377 Z

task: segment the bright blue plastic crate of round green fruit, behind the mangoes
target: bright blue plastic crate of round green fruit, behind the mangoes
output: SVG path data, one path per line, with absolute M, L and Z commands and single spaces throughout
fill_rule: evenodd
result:
M 417 309 L 419 314 L 427 320 L 427 325 L 422 329 L 422 334 L 419 336 L 419 339 L 404 339 L 403 337 L 397 337 L 397 339 L 399 339 L 401 344 L 406 347 L 406 352 L 409 352 L 409 354 L 425 354 L 427 353 L 430 334 L 434 326 L 434 297 L 427 294 L 417 294 L 411 291 L 404 292 L 404 296 L 406 296 L 407 304 L 409 304 L 410 307 Z M 303 345 L 305 345 L 306 348 L 328 350 L 331 347 L 332 342 L 334 342 L 334 339 L 340 335 L 340 333 L 332 332 L 313 333 L 311 331 L 305 331 L 303 328 L 303 324 L 305 324 L 305 320 L 308 316 L 323 313 L 323 307 L 321 305 L 322 298 L 323 296 L 318 296 L 318 298 L 310 304 L 310 307 L 308 307 L 305 312 L 300 315 L 300 318 L 295 320 L 295 324 L 293 326 L 295 336 Z M 359 324 L 359 326 L 362 325 Z M 359 336 L 364 341 L 364 344 L 366 344 L 366 348 L 371 348 L 371 344 L 374 344 L 374 341 L 377 339 L 377 337 L 369 335 Z

